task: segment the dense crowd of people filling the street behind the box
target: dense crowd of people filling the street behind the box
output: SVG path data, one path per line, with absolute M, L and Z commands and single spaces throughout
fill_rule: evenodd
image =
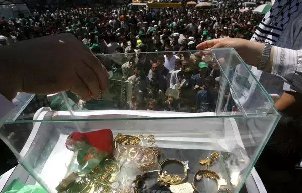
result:
M 121 79 L 132 83 L 128 108 L 214 111 L 220 72 L 211 68 L 211 57 L 199 56 L 196 45 L 224 37 L 250 39 L 263 17 L 240 12 L 235 1 L 222 1 L 219 7 L 34 10 L 30 17 L 2 17 L 0 45 L 71 33 L 97 55 L 108 71 L 117 68 Z

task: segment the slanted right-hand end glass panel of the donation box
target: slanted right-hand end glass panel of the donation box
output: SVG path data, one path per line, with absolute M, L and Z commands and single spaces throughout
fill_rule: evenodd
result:
M 212 54 L 224 74 L 223 81 L 230 85 L 230 100 L 236 104 L 236 112 L 261 114 L 272 109 L 274 103 L 269 94 L 234 49 L 212 49 Z

